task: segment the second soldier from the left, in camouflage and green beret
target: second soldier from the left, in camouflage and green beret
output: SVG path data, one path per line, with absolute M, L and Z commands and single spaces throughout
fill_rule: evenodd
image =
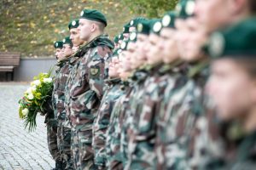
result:
M 53 103 L 55 105 L 55 118 L 58 122 L 57 137 L 58 148 L 61 153 L 62 169 L 73 169 L 73 162 L 71 159 L 71 129 L 64 127 L 64 121 L 66 117 L 66 111 L 64 107 L 65 103 L 65 87 L 67 83 L 67 77 L 70 72 L 69 59 L 73 54 L 73 43 L 70 37 L 63 39 L 63 48 L 61 52 L 62 58 L 58 60 L 59 71 L 55 76 L 54 90 L 53 90 Z

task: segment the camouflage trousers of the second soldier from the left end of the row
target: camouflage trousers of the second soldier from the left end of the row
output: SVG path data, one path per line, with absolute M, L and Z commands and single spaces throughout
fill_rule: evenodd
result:
M 72 170 L 73 159 L 71 156 L 71 129 L 63 126 L 63 121 L 58 122 L 57 127 L 57 144 L 61 153 L 63 169 Z

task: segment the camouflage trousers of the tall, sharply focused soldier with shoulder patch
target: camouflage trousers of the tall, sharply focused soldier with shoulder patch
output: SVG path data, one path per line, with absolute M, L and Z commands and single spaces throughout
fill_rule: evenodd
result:
M 72 128 L 72 155 L 75 169 L 95 170 L 94 152 L 92 149 L 92 131 L 77 131 Z

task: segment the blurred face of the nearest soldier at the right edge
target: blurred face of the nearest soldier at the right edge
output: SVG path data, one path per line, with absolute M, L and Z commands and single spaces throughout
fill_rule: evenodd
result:
M 217 106 L 218 116 L 225 121 L 242 119 L 256 101 L 255 80 L 235 59 L 213 62 L 207 92 Z

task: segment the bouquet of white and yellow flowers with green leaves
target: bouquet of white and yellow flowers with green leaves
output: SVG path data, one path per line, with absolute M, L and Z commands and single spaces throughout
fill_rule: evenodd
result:
M 40 73 L 33 78 L 31 86 L 19 100 L 19 116 L 25 120 L 25 128 L 32 132 L 37 127 L 36 117 L 47 112 L 45 105 L 49 105 L 53 90 L 53 80 L 49 73 Z

